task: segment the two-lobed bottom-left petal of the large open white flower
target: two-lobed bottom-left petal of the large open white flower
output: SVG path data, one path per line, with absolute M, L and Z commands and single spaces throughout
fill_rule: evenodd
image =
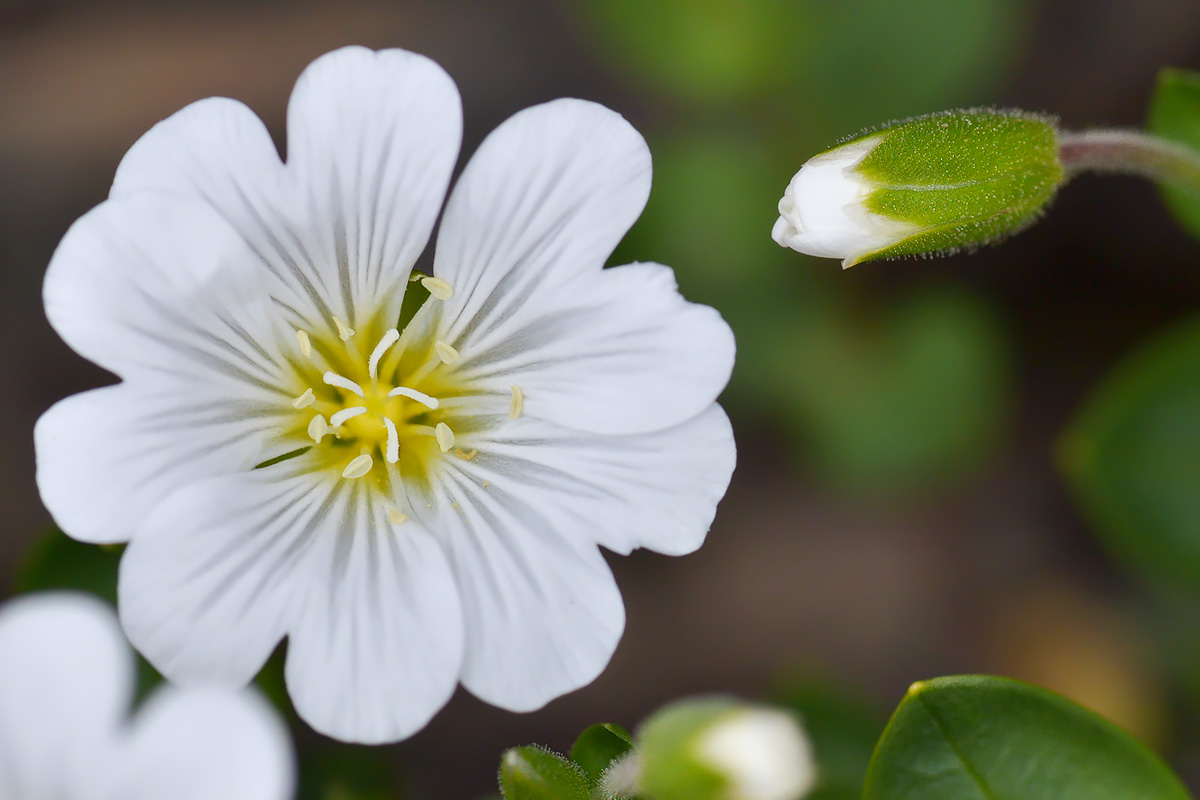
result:
M 164 498 L 121 560 L 130 639 L 173 680 L 239 685 L 288 634 L 288 692 L 313 728 L 412 735 L 458 682 L 458 591 L 432 536 L 365 491 L 258 470 Z

